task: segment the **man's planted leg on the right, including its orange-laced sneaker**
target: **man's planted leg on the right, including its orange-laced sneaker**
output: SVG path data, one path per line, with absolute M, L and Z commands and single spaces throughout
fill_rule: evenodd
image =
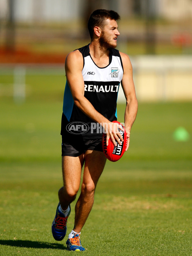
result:
M 73 248 L 73 242 L 74 249 L 78 248 L 75 246 L 75 242 L 91 212 L 94 202 L 95 188 L 104 169 L 106 157 L 101 151 L 88 150 L 84 154 L 84 162 L 85 166 L 81 194 L 75 206 L 75 224 L 73 231 L 77 234 L 74 234 L 74 238 L 67 240 L 68 248 L 71 247 L 71 249 Z

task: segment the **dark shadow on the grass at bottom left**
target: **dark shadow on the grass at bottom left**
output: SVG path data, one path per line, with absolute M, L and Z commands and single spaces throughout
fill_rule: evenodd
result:
M 15 247 L 26 247 L 26 248 L 40 248 L 40 249 L 46 248 L 46 249 L 68 250 L 67 247 L 64 247 L 62 244 L 28 241 L 28 240 L 0 240 L 0 244 L 15 246 Z

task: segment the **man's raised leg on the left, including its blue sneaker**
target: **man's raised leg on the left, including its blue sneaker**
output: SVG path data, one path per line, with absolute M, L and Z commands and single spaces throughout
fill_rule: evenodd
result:
M 56 215 L 52 223 L 52 235 L 57 241 L 61 241 L 66 235 L 70 203 L 75 200 L 79 190 L 83 164 L 84 154 L 78 157 L 62 157 L 63 187 L 61 187 L 58 192 L 60 202 L 57 206 Z M 67 216 L 63 213 L 65 210 L 68 210 Z

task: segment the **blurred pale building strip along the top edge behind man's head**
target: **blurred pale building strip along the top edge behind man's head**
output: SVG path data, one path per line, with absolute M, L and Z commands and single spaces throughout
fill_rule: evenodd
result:
M 191 0 L 1 0 L 0 19 L 8 15 L 9 3 L 14 5 L 17 22 L 79 19 L 86 12 L 98 8 L 116 10 L 122 18 L 145 15 L 146 11 L 150 15 L 171 20 L 192 18 Z

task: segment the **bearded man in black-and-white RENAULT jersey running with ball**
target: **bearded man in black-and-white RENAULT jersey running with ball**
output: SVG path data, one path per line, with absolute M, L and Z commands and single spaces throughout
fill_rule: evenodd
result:
M 100 128 L 107 133 L 107 144 L 109 138 L 115 145 L 123 141 L 117 129 L 120 127 L 112 123 L 117 120 L 116 100 L 120 82 L 126 98 L 126 151 L 137 114 L 130 59 L 115 49 L 120 35 L 116 22 L 119 19 L 120 16 L 111 10 L 94 11 L 88 21 L 91 43 L 70 52 L 65 62 L 67 82 L 61 121 L 64 186 L 58 192 L 59 205 L 52 223 L 52 234 L 57 241 L 66 235 L 70 203 L 75 200 L 79 190 L 84 165 L 81 194 L 75 206 L 75 224 L 66 242 L 70 251 L 85 250 L 81 245 L 80 233 L 92 209 L 95 188 L 106 162 Z M 72 122 L 78 124 L 78 129 L 73 132 L 70 126 Z

